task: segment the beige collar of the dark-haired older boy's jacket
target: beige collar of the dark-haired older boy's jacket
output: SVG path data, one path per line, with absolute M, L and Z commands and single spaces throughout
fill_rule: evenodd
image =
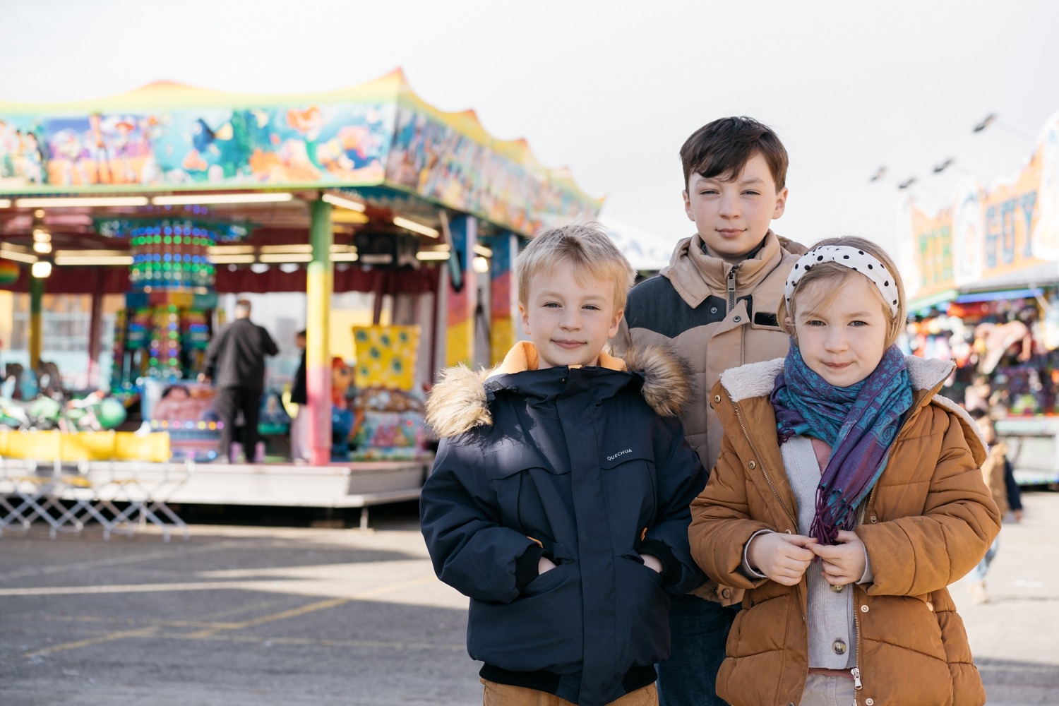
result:
M 674 250 L 669 265 L 660 274 L 672 283 L 674 289 L 692 307 L 702 304 L 711 294 L 728 290 L 728 277 L 736 270 L 736 295 L 754 289 L 769 276 L 784 257 L 783 245 L 771 230 L 752 257 L 732 265 L 720 257 L 707 255 L 698 233 L 684 238 Z

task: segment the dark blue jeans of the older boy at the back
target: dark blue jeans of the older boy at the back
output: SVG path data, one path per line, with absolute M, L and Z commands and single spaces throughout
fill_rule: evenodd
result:
M 660 706 L 724 706 L 717 696 L 717 670 L 738 610 L 692 595 L 672 599 L 672 649 L 669 658 L 658 665 Z

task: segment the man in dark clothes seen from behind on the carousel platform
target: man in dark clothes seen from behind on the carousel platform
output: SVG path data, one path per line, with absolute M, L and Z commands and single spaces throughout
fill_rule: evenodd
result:
M 265 356 L 279 349 L 268 331 L 250 321 L 250 302 L 235 303 L 235 321 L 210 341 L 199 380 L 213 381 L 214 409 L 220 417 L 220 457 L 231 458 L 235 420 L 243 413 L 244 449 L 249 460 L 257 450 L 257 419 L 265 388 Z

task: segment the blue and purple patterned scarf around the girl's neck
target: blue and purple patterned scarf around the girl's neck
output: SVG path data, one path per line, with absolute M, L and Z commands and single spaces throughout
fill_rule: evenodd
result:
M 891 346 L 872 375 L 836 387 L 813 373 L 792 340 L 770 399 L 780 443 L 806 435 L 831 447 L 809 536 L 834 544 L 840 529 L 852 529 L 855 510 L 882 475 L 890 445 L 912 408 L 904 356 Z

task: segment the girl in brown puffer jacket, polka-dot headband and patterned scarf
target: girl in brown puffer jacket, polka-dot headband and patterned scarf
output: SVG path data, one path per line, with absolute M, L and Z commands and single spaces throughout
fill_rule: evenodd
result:
M 747 589 L 717 693 L 734 706 L 985 703 L 946 586 L 1000 529 L 985 447 L 937 395 L 952 363 L 904 358 L 893 260 L 824 240 L 794 266 L 786 358 L 712 392 L 721 454 L 692 504 L 692 553 Z

